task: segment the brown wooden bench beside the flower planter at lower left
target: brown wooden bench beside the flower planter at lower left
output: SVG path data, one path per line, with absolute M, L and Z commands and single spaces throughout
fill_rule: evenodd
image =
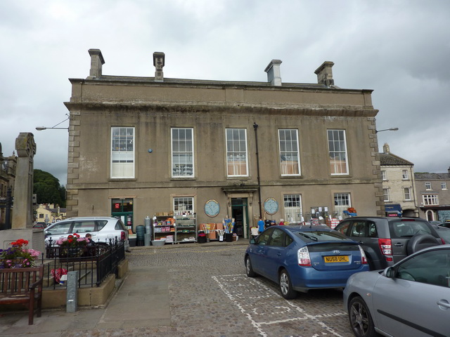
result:
M 0 269 L 0 305 L 20 303 L 28 308 L 28 324 L 33 324 L 34 303 L 41 317 L 44 265 Z

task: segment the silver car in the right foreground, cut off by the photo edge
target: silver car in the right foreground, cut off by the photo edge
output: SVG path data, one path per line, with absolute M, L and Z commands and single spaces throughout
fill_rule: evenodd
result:
M 344 308 L 358 337 L 450 336 L 450 244 L 352 275 Z

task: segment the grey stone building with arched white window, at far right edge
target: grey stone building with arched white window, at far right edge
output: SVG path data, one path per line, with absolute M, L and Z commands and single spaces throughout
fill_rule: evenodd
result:
M 450 167 L 447 173 L 414 173 L 420 218 L 450 220 Z

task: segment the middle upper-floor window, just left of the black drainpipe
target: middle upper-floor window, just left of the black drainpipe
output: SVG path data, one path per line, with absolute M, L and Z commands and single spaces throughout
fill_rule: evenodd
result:
M 226 129 L 226 173 L 229 177 L 248 176 L 247 130 Z

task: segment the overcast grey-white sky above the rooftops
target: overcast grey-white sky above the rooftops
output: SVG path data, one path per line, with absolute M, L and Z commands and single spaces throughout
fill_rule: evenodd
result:
M 66 118 L 69 78 L 89 76 L 89 48 L 103 74 L 266 81 L 272 59 L 283 82 L 316 83 L 333 61 L 335 85 L 373 89 L 380 151 L 416 172 L 450 166 L 450 1 L 77 0 L 0 1 L 0 143 L 20 132 L 37 143 L 34 168 L 66 183 L 68 133 L 36 131 Z M 60 124 L 68 126 L 68 121 Z

